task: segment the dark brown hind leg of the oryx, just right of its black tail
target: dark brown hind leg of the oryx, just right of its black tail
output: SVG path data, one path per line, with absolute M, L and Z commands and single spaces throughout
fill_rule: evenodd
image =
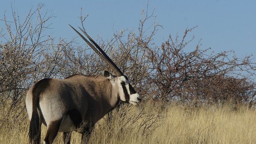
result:
M 53 143 L 53 140 L 58 133 L 61 121 L 62 120 L 53 121 L 53 122 L 50 122 L 49 125 L 47 125 L 47 132 L 46 132 L 46 136 L 45 136 L 45 140 L 44 140 L 43 144 Z

